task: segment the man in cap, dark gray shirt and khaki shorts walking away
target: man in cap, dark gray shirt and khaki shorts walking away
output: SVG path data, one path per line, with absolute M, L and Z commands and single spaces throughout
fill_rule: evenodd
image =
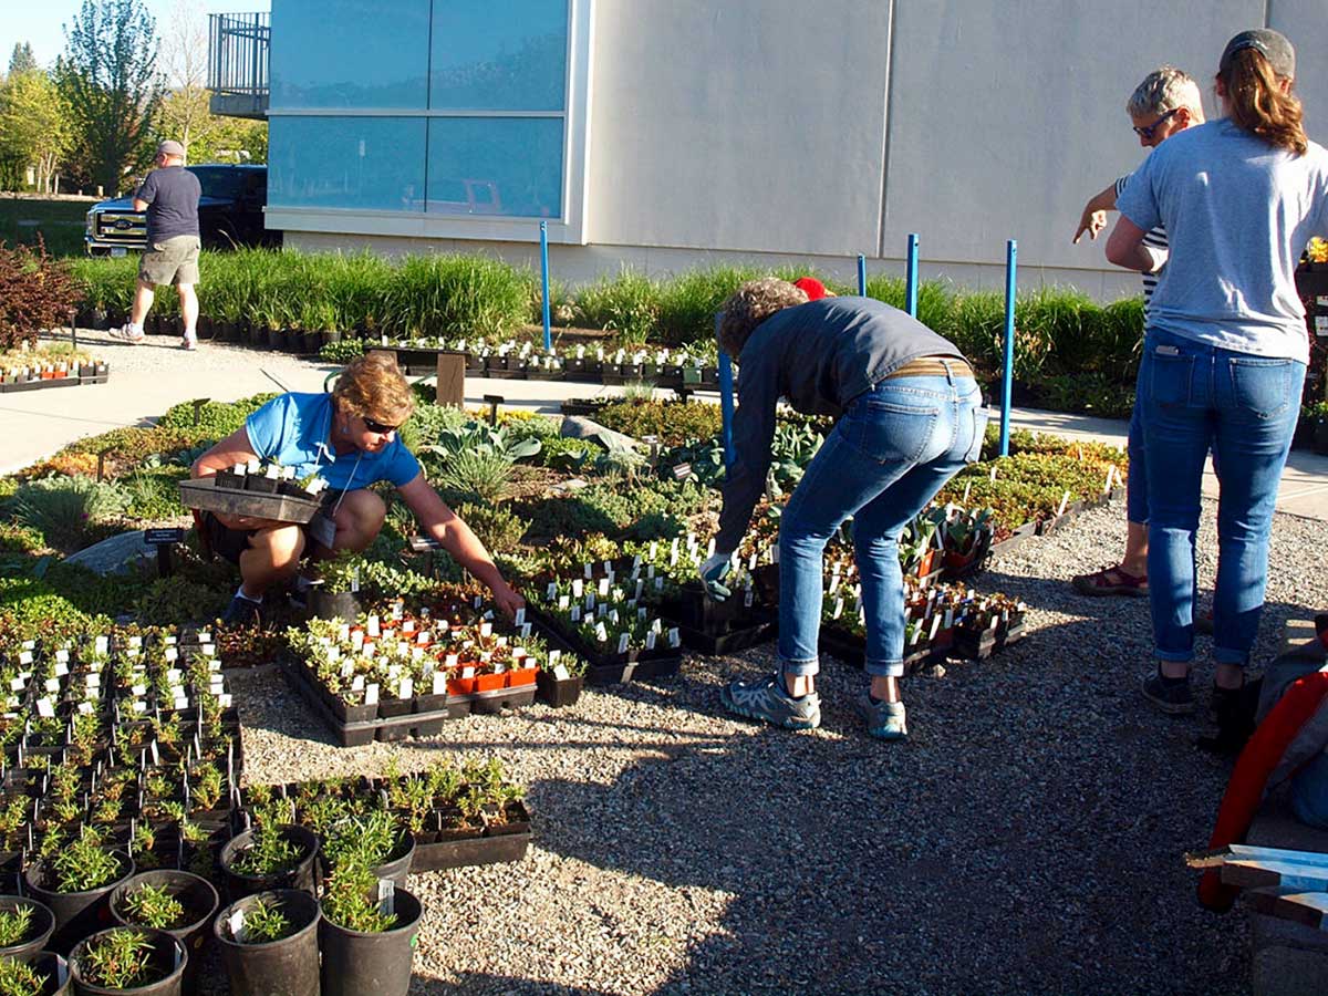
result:
M 174 283 L 185 319 L 181 348 L 198 348 L 198 177 L 185 169 L 185 146 L 167 139 L 157 146 L 157 169 L 134 193 L 134 210 L 147 212 L 147 248 L 138 263 L 138 288 L 129 324 L 113 335 L 143 341 L 143 319 L 153 307 L 154 287 Z

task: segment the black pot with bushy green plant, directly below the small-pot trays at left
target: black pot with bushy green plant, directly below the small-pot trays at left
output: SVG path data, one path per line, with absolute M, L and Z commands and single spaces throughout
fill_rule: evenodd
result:
M 33 862 L 23 872 L 24 891 L 45 904 L 56 918 L 48 950 L 68 955 L 70 948 L 110 922 L 110 891 L 134 874 L 125 851 L 101 847 L 85 837 L 50 859 Z

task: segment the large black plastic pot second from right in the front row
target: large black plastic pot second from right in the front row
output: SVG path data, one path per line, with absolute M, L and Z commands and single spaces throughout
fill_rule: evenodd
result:
M 290 936 L 244 944 L 231 934 L 231 918 L 259 900 L 275 902 L 295 927 Z M 222 948 L 232 996 L 319 996 L 319 923 L 323 910 L 308 892 L 282 888 L 238 899 L 216 918 L 212 932 Z

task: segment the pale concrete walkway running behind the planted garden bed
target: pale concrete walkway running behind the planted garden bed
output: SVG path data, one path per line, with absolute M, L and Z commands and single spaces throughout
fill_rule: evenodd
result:
M 78 341 L 110 363 L 109 382 L 0 394 L 0 473 L 44 459 L 84 436 L 147 425 L 181 401 L 234 401 L 264 390 L 323 390 L 325 377 L 337 369 L 287 353 L 214 343 L 202 343 L 190 353 L 169 336 L 149 336 L 143 345 L 131 347 L 105 332 L 80 329 Z M 556 412 L 563 398 L 620 393 L 620 388 L 594 384 L 466 378 L 466 404 L 474 406 L 483 405 L 485 394 L 497 394 L 511 408 Z M 1020 429 L 1125 446 L 1126 424 L 1118 420 L 1015 409 L 1011 421 Z M 1218 494 L 1211 465 L 1203 490 L 1208 497 Z M 1291 454 L 1278 510 L 1328 521 L 1328 457 L 1303 450 Z

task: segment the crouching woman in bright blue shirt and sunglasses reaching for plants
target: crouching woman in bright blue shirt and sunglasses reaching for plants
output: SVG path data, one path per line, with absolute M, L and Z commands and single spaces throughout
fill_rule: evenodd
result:
M 325 514 L 308 526 L 207 513 L 202 527 L 212 550 L 240 568 L 240 587 L 226 622 L 252 622 L 263 595 L 286 584 L 305 554 L 360 551 L 382 529 L 386 506 L 368 490 L 390 481 L 420 526 L 457 563 L 483 582 L 498 608 L 511 615 L 525 600 L 503 580 L 485 544 L 433 490 L 420 462 L 397 438 L 414 410 L 410 385 L 382 353 L 355 360 L 331 394 L 288 393 L 251 414 L 194 462 L 193 477 L 210 477 L 251 459 L 276 461 L 296 474 L 328 482 Z

